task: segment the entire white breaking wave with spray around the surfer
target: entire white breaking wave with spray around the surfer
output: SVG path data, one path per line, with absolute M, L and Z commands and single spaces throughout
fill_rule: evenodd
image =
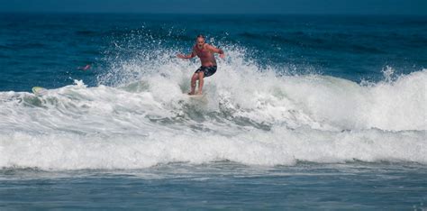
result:
M 196 62 L 175 50 L 112 60 L 42 96 L 0 92 L 0 167 L 139 169 L 162 163 L 409 161 L 427 164 L 427 69 L 377 83 L 292 75 L 228 58 L 190 98 Z M 393 69 L 386 69 L 385 74 Z M 386 75 L 387 76 L 387 75 Z

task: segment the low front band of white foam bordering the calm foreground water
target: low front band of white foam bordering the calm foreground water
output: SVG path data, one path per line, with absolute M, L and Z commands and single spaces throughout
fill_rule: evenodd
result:
M 11 133 L 0 136 L 0 166 L 43 170 L 139 169 L 169 162 L 236 161 L 293 165 L 296 161 L 411 161 L 427 164 L 425 133 L 379 130 L 332 133 L 312 129 L 212 133 L 80 135 Z

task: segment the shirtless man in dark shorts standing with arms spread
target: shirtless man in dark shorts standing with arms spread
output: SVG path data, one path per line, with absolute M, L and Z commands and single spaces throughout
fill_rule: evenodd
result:
M 204 77 L 210 77 L 216 72 L 216 60 L 213 53 L 220 54 L 220 58 L 224 59 L 225 55 L 223 50 L 213 47 L 212 45 L 204 41 L 204 35 L 200 34 L 195 38 L 195 46 L 191 54 L 183 55 L 177 54 L 177 58 L 189 60 L 197 56 L 200 58 L 202 66 L 195 70 L 193 77 L 191 78 L 191 91 L 188 95 L 195 95 L 195 82 L 199 81 L 197 95 L 202 95 Z

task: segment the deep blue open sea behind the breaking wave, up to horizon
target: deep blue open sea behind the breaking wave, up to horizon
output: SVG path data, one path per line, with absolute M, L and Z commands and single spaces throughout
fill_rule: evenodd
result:
M 221 46 L 241 46 L 259 65 L 293 67 L 353 81 L 380 80 L 427 65 L 422 16 L 0 14 L 0 90 L 63 87 L 69 78 L 95 86 L 105 58 L 148 48 L 190 50 L 195 34 Z M 150 41 L 161 41 L 151 43 Z M 89 72 L 77 67 L 93 64 Z

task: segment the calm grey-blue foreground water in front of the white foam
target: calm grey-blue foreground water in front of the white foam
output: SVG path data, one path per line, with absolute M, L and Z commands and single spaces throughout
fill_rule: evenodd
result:
M 0 207 L 18 209 L 422 210 L 427 197 L 425 167 L 386 163 L 248 169 L 221 162 L 2 174 Z

